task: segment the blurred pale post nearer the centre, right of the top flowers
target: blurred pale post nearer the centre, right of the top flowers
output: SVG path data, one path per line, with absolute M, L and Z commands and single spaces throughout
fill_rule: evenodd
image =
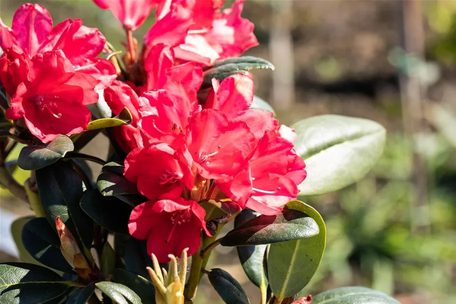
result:
M 272 104 L 277 110 L 289 109 L 295 100 L 293 40 L 290 25 L 293 1 L 270 0 L 271 16 L 269 53 L 275 66 L 272 73 Z

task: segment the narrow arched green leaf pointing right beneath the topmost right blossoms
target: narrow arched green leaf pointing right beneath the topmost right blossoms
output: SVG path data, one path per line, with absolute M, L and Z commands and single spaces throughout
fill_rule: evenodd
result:
M 216 62 L 210 69 L 204 71 L 202 89 L 212 86 L 212 79 L 224 80 L 230 75 L 242 73 L 248 74 L 250 70 L 269 69 L 274 70 L 274 66 L 267 60 L 252 56 L 229 58 Z

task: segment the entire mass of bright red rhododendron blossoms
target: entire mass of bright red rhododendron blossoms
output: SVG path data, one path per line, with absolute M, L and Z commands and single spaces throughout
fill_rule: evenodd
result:
M 202 234 L 212 235 L 203 202 L 275 215 L 296 198 L 306 171 L 294 131 L 250 109 L 251 74 L 209 79 L 212 86 L 202 88 L 216 61 L 258 44 L 253 24 L 241 17 L 243 0 L 227 9 L 223 0 L 94 2 L 125 29 L 122 57 L 80 19 L 54 27 L 40 5 L 21 6 L 12 28 L 0 21 L 6 116 L 27 128 L 32 144 L 87 130 L 97 118 L 89 104 L 106 102 L 113 115 L 127 108 L 131 124 L 109 135 L 126 155 L 118 152 L 124 177 L 147 198 L 133 209 L 128 230 L 147 240 L 160 262 L 186 248 L 194 254 Z M 156 23 L 139 52 L 133 31 L 153 10 Z

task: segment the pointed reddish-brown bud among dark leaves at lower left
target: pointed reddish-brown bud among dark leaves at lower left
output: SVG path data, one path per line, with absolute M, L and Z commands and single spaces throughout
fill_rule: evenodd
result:
M 89 279 L 89 274 L 92 273 L 92 269 L 84 254 L 82 254 L 81 249 L 79 249 L 79 245 L 73 234 L 60 219 L 60 216 L 56 218 L 56 227 L 61 243 L 60 250 L 62 251 L 63 256 L 79 276 Z

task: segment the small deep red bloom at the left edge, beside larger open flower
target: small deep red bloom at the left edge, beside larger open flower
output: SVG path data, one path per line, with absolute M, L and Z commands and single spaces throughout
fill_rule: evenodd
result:
M 8 95 L 13 96 L 19 84 L 29 80 L 29 70 L 32 61 L 21 48 L 16 45 L 5 50 L 0 58 L 0 80 L 7 90 Z

